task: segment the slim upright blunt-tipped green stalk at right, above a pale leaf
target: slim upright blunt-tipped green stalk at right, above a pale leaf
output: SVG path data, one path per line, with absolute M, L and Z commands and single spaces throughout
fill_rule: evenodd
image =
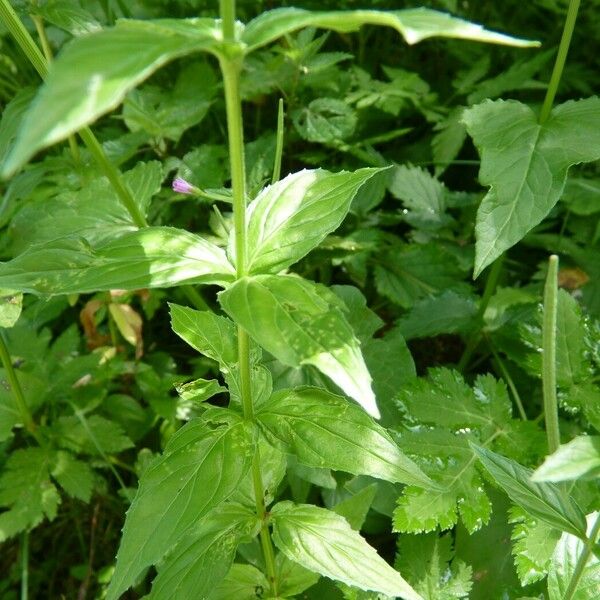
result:
M 558 403 L 556 398 L 556 311 L 558 300 L 558 256 L 548 261 L 548 275 L 544 286 L 544 321 L 542 328 L 542 387 L 544 418 L 550 454 L 560 446 Z

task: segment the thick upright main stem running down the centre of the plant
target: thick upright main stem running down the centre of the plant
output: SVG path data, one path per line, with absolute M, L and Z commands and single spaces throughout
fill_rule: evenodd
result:
M 235 0 L 221 0 L 221 19 L 225 52 L 219 63 L 223 74 L 225 107 L 227 112 L 227 137 L 229 141 L 229 162 L 231 166 L 231 188 L 233 194 L 233 222 L 235 232 L 235 261 L 238 279 L 246 275 L 246 173 L 244 163 L 244 130 L 242 122 L 242 102 L 239 90 L 242 54 L 239 52 L 235 34 Z M 238 325 L 238 362 L 240 371 L 240 395 L 244 418 L 254 420 L 252 402 L 252 381 L 250 367 L 250 339 L 246 331 Z M 262 521 L 260 541 L 265 558 L 267 577 L 271 593 L 277 596 L 277 576 L 275 553 L 269 532 L 265 493 L 260 468 L 258 448 L 252 461 L 252 481 L 256 512 Z

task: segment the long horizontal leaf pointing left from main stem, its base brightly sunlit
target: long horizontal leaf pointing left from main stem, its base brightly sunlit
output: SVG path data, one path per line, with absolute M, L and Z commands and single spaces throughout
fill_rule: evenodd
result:
M 91 246 L 67 237 L 32 246 L 0 263 L 0 288 L 33 294 L 223 285 L 234 279 L 225 252 L 201 237 L 172 227 L 146 227 Z

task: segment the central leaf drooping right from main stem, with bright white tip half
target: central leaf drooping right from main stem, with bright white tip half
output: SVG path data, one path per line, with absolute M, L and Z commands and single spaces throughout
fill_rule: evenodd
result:
M 293 275 L 243 277 L 219 294 L 225 312 L 290 367 L 313 365 L 379 417 L 371 376 L 344 303 L 327 288 Z

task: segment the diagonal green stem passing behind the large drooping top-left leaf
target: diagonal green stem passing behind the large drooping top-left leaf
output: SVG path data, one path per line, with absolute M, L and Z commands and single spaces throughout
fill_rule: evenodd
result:
M 29 35 L 27 29 L 19 19 L 11 7 L 8 0 L 0 0 L 0 19 L 15 38 L 15 41 L 29 59 L 29 62 L 33 65 L 34 69 L 38 72 L 42 79 L 45 79 L 48 75 L 48 61 L 44 58 L 40 52 L 37 44 L 33 38 Z M 139 207 L 135 203 L 131 192 L 123 181 L 123 176 L 119 169 L 113 165 L 108 157 L 106 156 L 100 142 L 96 139 L 96 136 L 92 133 L 89 127 L 84 127 L 80 132 L 79 136 L 87 146 L 90 154 L 94 160 L 98 163 L 100 169 L 110 181 L 111 185 L 115 189 L 119 200 L 123 203 L 123 206 L 127 209 L 133 222 L 138 227 L 145 227 L 148 223 L 146 217 L 142 214 Z

